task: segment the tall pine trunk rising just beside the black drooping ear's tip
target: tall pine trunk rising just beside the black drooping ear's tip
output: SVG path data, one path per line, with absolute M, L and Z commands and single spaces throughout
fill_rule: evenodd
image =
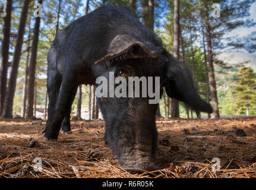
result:
M 213 107 L 213 118 L 219 119 L 219 104 L 217 98 L 217 88 L 216 88 L 216 80 L 214 76 L 214 66 L 213 66 L 213 52 L 211 48 L 211 27 L 209 23 L 209 15 L 207 2 L 205 1 L 204 11 L 206 12 L 206 40 L 208 46 L 208 68 L 209 68 L 209 84 L 211 89 L 211 106 Z

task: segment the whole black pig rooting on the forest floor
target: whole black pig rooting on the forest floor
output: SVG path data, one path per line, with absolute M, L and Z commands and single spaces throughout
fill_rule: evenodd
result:
M 77 87 L 96 84 L 109 72 L 160 77 L 171 98 L 195 110 L 211 112 L 198 96 L 184 62 L 170 55 L 162 41 L 127 7 L 105 6 L 59 31 L 48 52 L 48 121 L 44 140 L 56 140 L 59 130 L 70 131 L 70 112 Z M 105 140 L 123 167 L 154 170 L 157 149 L 156 104 L 148 97 L 102 97 L 97 102 L 106 122 Z

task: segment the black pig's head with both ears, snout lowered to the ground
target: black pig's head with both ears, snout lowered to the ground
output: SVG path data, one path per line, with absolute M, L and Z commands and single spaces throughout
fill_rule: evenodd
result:
M 195 110 L 211 112 L 211 106 L 198 96 L 191 73 L 184 62 L 173 58 L 164 48 L 135 37 L 119 34 L 110 43 L 108 53 L 96 64 L 108 63 L 103 74 L 109 72 L 126 80 L 128 77 L 160 77 L 160 95 L 165 87 L 171 98 L 187 103 Z M 128 83 L 127 83 L 128 85 Z M 142 84 L 141 84 L 142 85 Z M 105 140 L 119 162 L 129 168 L 154 170 L 157 150 L 157 104 L 149 104 L 149 97 L 99 98 L 99 107 L 106 121 Z

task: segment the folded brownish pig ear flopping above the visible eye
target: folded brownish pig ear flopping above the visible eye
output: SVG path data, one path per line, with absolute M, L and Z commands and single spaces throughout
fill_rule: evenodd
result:
M 124 55 L 125 59 L 157 57 L 157 53 L 150 50 L 144 43 L 132 36 L 119 34 L 110 43 L 108 53 L 103 58 L 98 59 L 95 64 L 100 64 L 119 55 Z

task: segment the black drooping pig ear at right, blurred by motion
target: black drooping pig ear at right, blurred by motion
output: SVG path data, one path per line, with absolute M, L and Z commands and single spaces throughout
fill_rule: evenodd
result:
M 200 98 L 195 90 L 191 72 L 188 66 L 181 61 L 171 58 L 167 66 L 166 93 L 169 97 L 187 103 L 194 110 L 213 112 L 211 105 Z

